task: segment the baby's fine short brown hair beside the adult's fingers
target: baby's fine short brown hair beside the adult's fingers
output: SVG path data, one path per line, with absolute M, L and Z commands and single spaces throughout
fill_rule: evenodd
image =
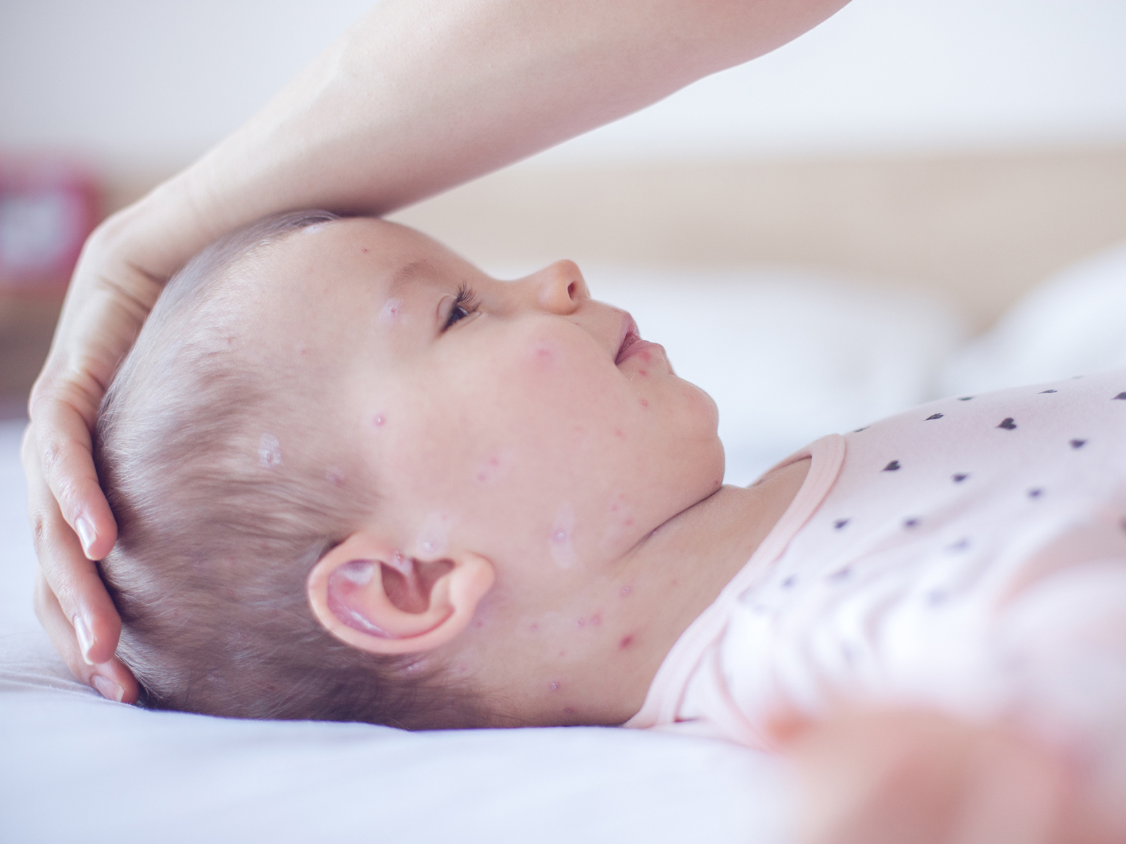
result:
M 276 215 L 207 248 L 114 377 L 95 461 L 118 526 L 101 562 L 118 655 L 154 708 L 470 726 L 474 704 L 440 671 L 345 645 L 306 601 L 310 569 L 377 491 L 323 436 L 331 361 L 277 361 L 256 343 L 256 303 L 271 246 L 337 218 Z

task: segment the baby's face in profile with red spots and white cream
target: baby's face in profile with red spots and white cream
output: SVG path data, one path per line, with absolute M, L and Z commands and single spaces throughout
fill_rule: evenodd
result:
M 364 527 L 404 556 L 470 550 L 500 587 L 565 589 L 721 484 L 712 399 L 569 261 L 498 281 L 366 218 L 265 260 L 252 306 L 270 353 L 339 372 L 312 412 L 370 468 L 382 503 Z

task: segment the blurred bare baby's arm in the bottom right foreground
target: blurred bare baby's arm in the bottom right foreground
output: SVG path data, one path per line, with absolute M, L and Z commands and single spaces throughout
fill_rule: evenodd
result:
M 803 844 L 1110 844 L 1071 766 L 1000 727 L 923 711 L 790 727 Z

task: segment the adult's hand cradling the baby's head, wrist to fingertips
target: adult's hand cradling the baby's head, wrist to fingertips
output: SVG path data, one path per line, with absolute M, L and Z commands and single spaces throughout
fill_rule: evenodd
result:
M 177 188 L 163 189 L 163 196 Z M 163 284 L 182 258 L 144 225 L 160 215 L 143 200 L 104 223 L 86 243 L 47 362 L 29 403 L 24 437 L 28 515 L 39 559 L 35 611 L 70 670 L 105 697 L 133 702 L 137 684 L 114 656 L 120 619 L 98 575 L 116 524 L 98 485 L 90 431 L 113 372 L 133 344 Z M 209 236 L 179 221 L 181 251 Z M 163 246 L 161 246 L 163 244 Z M 175 244 L 172 244 L 175 245 Z

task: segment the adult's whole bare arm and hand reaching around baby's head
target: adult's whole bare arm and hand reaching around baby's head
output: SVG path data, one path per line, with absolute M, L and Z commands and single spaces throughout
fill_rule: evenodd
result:
M 36 610 L 75 675 L 136 698 L 91 562 L 116 530 L 90 431 L 177 267 L 267 214 L 388 213 L 775 50 L 846 1 L 384 0 L 244 126 L 100 226 L 24 442 Z

